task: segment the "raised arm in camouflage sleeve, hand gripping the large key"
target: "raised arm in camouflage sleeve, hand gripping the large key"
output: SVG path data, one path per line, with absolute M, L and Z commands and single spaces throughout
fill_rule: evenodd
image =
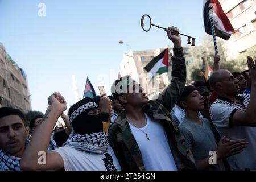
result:
M 162 93 L 159 94 L 160 100 L 168 111 L 176 104 L 180 94 L 183 92 L 186 83 L 186 64 L 181 46 L 179 29 L 169 27 L 167 30 L 168 38 L 174 43 L 174 56 L 172 56 L 172 81 Z

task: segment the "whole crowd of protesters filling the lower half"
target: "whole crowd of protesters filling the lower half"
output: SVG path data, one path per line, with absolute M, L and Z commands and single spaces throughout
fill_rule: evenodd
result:
M 214 73 L 186 86 L 179 30 L 166 32 L 174 44 L 172 80 L 156 100 L 124 76 L 112 96 L 83 98 L 68 116 L 57 92 L 28 126 L 19 109 L 0 108 L 0 171 L 256 170 L 255 55 L 242 73 L 220 69 L 215 55 Z M 59 117 L 66 128 L 55 127 Z

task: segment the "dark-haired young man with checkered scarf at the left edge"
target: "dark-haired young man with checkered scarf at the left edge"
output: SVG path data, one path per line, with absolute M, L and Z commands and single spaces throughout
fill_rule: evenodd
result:
M 0 171 L 19 171 L 29 128 L 19 109 L 0 108 Z

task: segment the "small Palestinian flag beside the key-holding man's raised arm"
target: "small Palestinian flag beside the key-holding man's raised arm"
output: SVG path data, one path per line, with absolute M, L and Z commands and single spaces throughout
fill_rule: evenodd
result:
M 144 67 L 144 69 L 146 69 L 146 71 L 150 73 L 152 77 L 155 74 L 161 75 L 163 73 L 167 73 L 168 60 L 169 60 L 168 48 L 166 48 L 163 52 L 160 53 L 160 55 L 154 57 L 154 59 L 152 59 L 150 63 L 148 63 L 146 67 Z

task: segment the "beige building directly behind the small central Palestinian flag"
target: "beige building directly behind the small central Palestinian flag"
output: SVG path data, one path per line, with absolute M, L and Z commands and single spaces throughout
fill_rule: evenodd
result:
M 152 99 L 158 96 L 171 81 L 171 69 L 172 62 L 171 56 L 173 55 L 173 50 L 168 48 L 169 51 L 169 72 L 163 73 L 162 75 L 155 76 L 151 79 L 151 76 L 147 74 L 144 67 L 157 55 L 164 51 L 166 48 L 157 48 L 154 50 L 144 50 L 144 51 L 130 51 L 123 55 L 123 60 L 120 63 L 121 75 L 131 76 L 133 80 L 141 84 L 144 92 L 146 92 L 147 97 Z M 193 60 L 191 54 L 189 54 L 188 47 L 183 48 L 185 55 L 185 60 L 187 64 L 189 61 Z

